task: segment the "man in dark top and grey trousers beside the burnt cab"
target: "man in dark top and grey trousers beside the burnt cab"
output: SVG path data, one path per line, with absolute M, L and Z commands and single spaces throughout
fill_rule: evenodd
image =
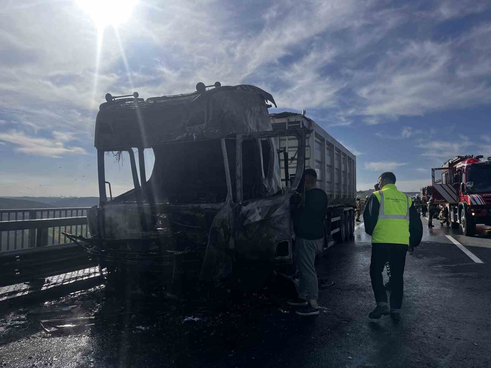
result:
M 300 201 L 292 197 L 290 207 L 295 230 L 294 260 L 299 270 L 300 292 L 295 300 L 287 303 L 301 308 L 298 315 L 318 315 L 319 281 L 314 261 L 324 247 L 324 219 L 327 214 L 328 199 L 324 190 L 317 187 L 317 173 L 314 169 L 305 170 L 305 194 Z

